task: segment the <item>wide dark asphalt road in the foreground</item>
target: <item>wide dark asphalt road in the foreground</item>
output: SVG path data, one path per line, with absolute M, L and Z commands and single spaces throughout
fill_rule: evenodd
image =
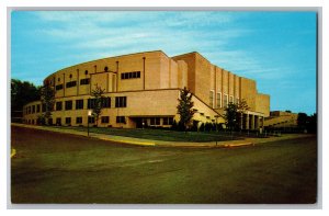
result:
M 135 147 L 12 127 L 12 203 L 311 204 L 316 137 L 234 149 Z

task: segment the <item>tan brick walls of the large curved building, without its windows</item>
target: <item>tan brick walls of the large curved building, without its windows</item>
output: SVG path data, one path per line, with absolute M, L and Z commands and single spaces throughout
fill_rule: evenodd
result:
M 107 72 L 104 72 L 105 67 L 109 68 Z M 88 70 L 88 75 L 84 73 L 86 70 Z M 133 71 L 140 71 L 140 78 L 121 79 L 123 72 Z M 91 83 L 80 86 L 80 80 L 84 78 L 91 78 Z M 111 96 L 121 94 L 129 95 L 128 104 L 132 106 L 106 110 L 106 113 L 111 116 L 175 115 L 178 99 L 175 91 L 178 90 L 172 91 L 175 92 L 172 93 L 167 89 L 184 87 L 188 87 L 188 89 L 195 94 L 195 99 L 198 100 L 198 102 L 196 100 L 196 104 L 200 103 L 200 107 L 205 110 L 209 116 L 216 113 L 209 107 L 211 90 L 214 90 L 214 107 L 217 105 L 217 92 L 220 92 L 222 104 L 224 104 L 224 98 L 225 94 L 227 94 L 228 101 L 230 96 L 234 96 L 234 102 L 237 98 L 239 98 L 239 100 L 246 99 L 250 111 L 265 114 L 269 114 L 270 111 L 270 96 L 257 92 L 254 80 L 238 77 L 230 71 L 214 66 L 195 52 L 172 58 L 169 58 L 160 50 L 104 58 L 64 68 L 48 76 L 46 80 L 55 81 L 54 86 L 61 83 L 64 89 L 56 91 L 56 100 L 72 99 L 73 107 L 76 99 L 90 98 L 90 87 L 93 89 L 95 84 L 105 89 L 107 95 Z M 66 83 L 73 80 L 77 81 L 77 86 L 66 88 Z M 114 103 L 113 98 L 112 106 L 114 106 Z M 87 106 L 87 104 L 84 105 Z M 216 111 L 223 114 L 224 107 Z M 86 113 L 86 111 L 75 111 L 73 109 L 73 111 L 63 113 L 56 112 L 54 117 L 57 115 L 77 116 L 83 113 Z M 35 115 L 25 115 L 24 117 L 31 118 L 32 116 Z M 111 123 L 111 125 L 118 126 L 113 123 Z M 127 122 L 124 126 L 134 126 L 134 122 Z

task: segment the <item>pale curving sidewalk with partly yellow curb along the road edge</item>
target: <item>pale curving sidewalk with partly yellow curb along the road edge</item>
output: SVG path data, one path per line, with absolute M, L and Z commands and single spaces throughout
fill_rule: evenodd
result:
M 11 123 L 11 125 L 19 126 L 19 127 L 35 128 L 35 129 L 88 137 L 88 134 L 86 132 L 78 132 L 75 129 L 45 127 L 45 126 L 37 126 L 37 125 L 25 125 L 25 124 L 16 124 L 16 123 Z M 313 135 L 292 134 L 292 135 L 283 135 L 281 137 L 246 138 L 243 140 L 229 140 L 229 141 L 218 141 L 218 143 L 216 143 L 216 141 L 211 141 L 211 143 L 175 141 L 175 143 L 172 143 L 172 141 L 151 140 L 151 139 L 141 139 L 141 138 L 125 137 L 125 136 L 114 136 L 114 135 L 89 133 L 89 137 L 91 137 L 91 138 L 107 140 L 107 141 L 115 141 L 115 143 L 136 145 L 136 146 L 185 147 L 185 148 L 186 147 L 189 147 L 189 148 L 232 148 L 232 147 L 241 147 L 241 146 L 254 146 L 258 144 L 264 144 L 264 143 L 269 143 L 269 141 L 285 140 L 285 139 L 292 139 L 292 138 L 297 138 L 297 137 L 308 137 L 308 136 L 313 136 Z

